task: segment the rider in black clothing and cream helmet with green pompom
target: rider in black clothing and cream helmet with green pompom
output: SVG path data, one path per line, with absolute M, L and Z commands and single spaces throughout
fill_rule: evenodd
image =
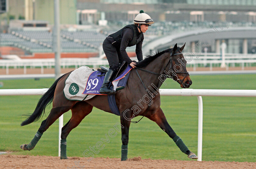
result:
M 143 33 L 148 30 L 148 26 L 151 26 L 154 21 L 151 17 L 144 13 L 143 10 L 140 10 L 133 24 L 126 25 L 121 30 L 108 35 L 104 40 L 102 46 L 103 51 L 108 59 L 109 69 L 105 75 L 103 84 L 99 93 L 101 94 L 113 94 L 112 90 L 108 88 L 109 83 L 113 80 L 116 75 L 116 70 L 119 66 L 119 63 L 126 61 L 130 66 L 135 68 L 136 61 L 132 61 L 126 52 L 126 47 L 136 45 L 136 56 L 138 61 L 143 60 L 142 56 L 142 42 L 144 39 Z

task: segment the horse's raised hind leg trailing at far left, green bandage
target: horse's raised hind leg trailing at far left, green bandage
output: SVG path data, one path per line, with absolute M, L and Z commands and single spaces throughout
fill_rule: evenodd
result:
M 70 106 L 61 106 L 61 107 L 52 108 L 49 116 L 44 121 L 42 121 L 41 126 L 39 127 L 37 133 L 35 134 L 34 138 L 31 140 L 31 142 L 29 144 L 22 144 L 20 148 L 23 150 L 34 149 L 37 142 L 40 140 L 41 136 L 43 135 L 44 131 L 46 131 L 52 125 L 52 123 L 54 123 L 63 113 L 70 110 L 72 106 L 73 104 L 70 104 Z

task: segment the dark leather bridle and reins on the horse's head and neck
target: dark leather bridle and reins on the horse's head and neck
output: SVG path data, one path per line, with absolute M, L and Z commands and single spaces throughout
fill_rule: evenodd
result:
M 172 75 L 170 76 L 169 74 L 166 74 L 165 72 L 164 72 L 164 73 L 165 73 L 165 76 L 166 76 L 167 78 L 171 78 L 171 79 L 174 79 L 175 76 L 177 75 L 177 73 L 185 73 L 186 76 L 185 76 L 182 80 L 180 80 L 180 79 L 176 76 L 176 77 L 177 77 L 177 82 L 178 82 L 178 80 L 179 80 L 178 83 L 179 83 L 179 84 L 183 84 L 183 86 L 185 86 L 185 84 L 183 83 L 183 81 L 184 81 L 184 79 L 185 79 L 189 74 L 188 74 L 188 72 L 177 72 L 176 69 L 174 68 L 175 65 L 173 65 L 172 56 L 177 56 L 177 55 L 183 55 L 183 53 L 175 53 L 175 54 L 172 54 L 172 53 L 171 53 L 170 59 L 169 59 L 168 63 L 165 65 L 165 68 L 164 68 L 164 70 L 165 70 L 166 67 L 167 67 L 167 65 L 169 64 L 169 62 L 171 62 L 169 71 L 172 70 Z M 176 63 L 176 64 L 177 64 L 177 63 Z M 141 68 L 137 68 L 137 67 L 135 67 L 135 69 L 136 69 L 136 72 L 137 72 L 137 75 L 139 76 L 139 78 L 140 78 L 140 75 L 139 75 L 137 69 L 142 70 L 142 71 L 144 71 L 144 72 L 148 72 L 148 73 L 154 74 L 154 75 L 159 75 L 159 76 L 162 75 L 162 74 L 159 74 L 159 73 L 151 72 L 151 71 L 148 71 L 148 70 L 145 70 L 145 69 L 141 69 Z M 144 83 L 142 82 L 141 78 L 140 78 L 140 81 L 141 81 L 142 85 L 144 86 L 145 90 L 148 92 L 148 90 L 147 90 L 146 86 L 144 85 Z M 160 86 L 158 86 L 158 89 L 159 89 L 159 87 L 160 87 Z M 148 94 L 150 94 L 150 93 L 148 92 Z M 151 95 L 152 95 L 152 94 L 150 94 L 150 96 L 151 96 Z M 151 96 L 151 97 L 152 97 L 152 96 Z

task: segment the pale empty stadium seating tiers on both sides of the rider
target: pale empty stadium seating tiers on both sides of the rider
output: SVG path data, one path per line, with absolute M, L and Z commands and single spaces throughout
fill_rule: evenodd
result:
M 112 23 L 117 25 L 117 23 Z M 213 22 L 156 22 L 146 33 L 144 33 L 144 43 L 152 39 L 171 35 L 173 33 L 186 32 L 201 28 L 211 28 Z M 118 21 L 118 26 L 114 29 L 104 31 L 77 30 L 61 31 L 61 51 L 62 52 L 98 52 L 104 39 L 127 25 L 127 21 Z M 232 26 L 251 26 L 256 24 L 251 22 L 229 23 Z M 101 28 L 102 29 L 102 28 Z M 0 34 L 0 46 L 17 46 L 28 52 L 53 52 L 53 34 L 48 31 L 12 31 L 11 33 Z M 128 47 L 127 52 L 134 52 L 135 46 Z

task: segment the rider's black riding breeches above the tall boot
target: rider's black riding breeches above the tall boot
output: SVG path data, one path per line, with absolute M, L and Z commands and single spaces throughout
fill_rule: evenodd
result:
M 120 50 L 116 49 L 116 47 L 110 43 L 108 39 L 104 40 L 102 46 L 108 59 L 109 69 L 112 69 L 113 71 L 117 70 L 119 63 L 123 62 Z

